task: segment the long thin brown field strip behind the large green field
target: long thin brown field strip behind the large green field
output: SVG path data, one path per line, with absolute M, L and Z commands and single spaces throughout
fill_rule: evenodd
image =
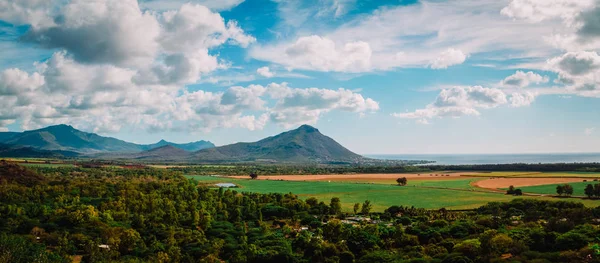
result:
M 316 175 L 263 175 L 258 180 L 282 180 L 282 181 L 332 181 L 332 182 L 395 182 L 400 177 L 411 180 L 454 180 L 461 176 L 476 175 L 475 172 L 461 173 L 398 173 L 398 174 L 316 174 Z M 436 176 L 437 175 L 437 176 Z M 246 179 L 248 176 L 228 176 L 237 179 Z

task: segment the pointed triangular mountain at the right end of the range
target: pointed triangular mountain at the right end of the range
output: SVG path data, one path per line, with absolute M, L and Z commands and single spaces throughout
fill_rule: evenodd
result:
M 309 125 L 251 143 L 235 143 L 196 152 L 194 161 L 355 163 L 366 158 L 351 152 Z

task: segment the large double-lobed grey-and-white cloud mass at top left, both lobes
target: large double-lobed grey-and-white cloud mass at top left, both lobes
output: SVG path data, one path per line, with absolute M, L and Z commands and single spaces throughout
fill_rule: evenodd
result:
M 235 21 L 225 22 L 219 13 L 193 4 L 156 13 L 140 10 L 136 0 L 73 0 L 53 21 L 32 26 L 23 39 L 64 49 L 78 62 L 137 69 L 159 64 L 180 70 L 181 63 L 194 67 L 199 56 L 201 63 L 208 61 L 210 48 L 226 43 L 247 47 L 255 41 Z

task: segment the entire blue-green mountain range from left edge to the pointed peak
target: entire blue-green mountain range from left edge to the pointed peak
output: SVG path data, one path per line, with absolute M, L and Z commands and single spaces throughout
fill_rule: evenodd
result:
M 0 156 L 92 157 L 186 163 L 357 163 L 368 160 L 344 148 L 318 129 L 302 125 L 257 142 L 215 147 L 208 141 L 176 144 L 161 140 L 135 144 L 55 125 L 25 132 L 1 132 Z

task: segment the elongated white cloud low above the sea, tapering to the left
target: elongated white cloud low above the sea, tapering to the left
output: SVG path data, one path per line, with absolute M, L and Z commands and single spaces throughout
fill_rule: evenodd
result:
M 427 105 L 424 109 L 414 112 L 393 113 L 392 116 L 404 119 L 425 119 L 462 116 L 478 116 L 478 109 L 490 109 L 506 104 L 506 94 L 496 88 L 484 88 L 481 86 L 453 87 L 443 89 L 435 102 Z

